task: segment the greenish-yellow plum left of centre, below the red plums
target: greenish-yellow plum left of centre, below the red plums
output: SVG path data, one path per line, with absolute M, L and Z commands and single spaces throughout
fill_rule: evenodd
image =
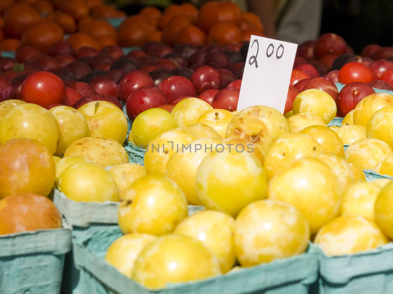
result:
M 177 128 L 173 115 L 161 108 L 151 108 L 140 113 L 132 122 L 134 145 L 147 147 L 150 140 L 163 131 Z

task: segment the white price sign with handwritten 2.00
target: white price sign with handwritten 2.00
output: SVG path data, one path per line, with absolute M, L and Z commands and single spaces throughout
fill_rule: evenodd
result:
M 298 44 L 251 35 L 237 110 L 267 105 L 284 112 Z

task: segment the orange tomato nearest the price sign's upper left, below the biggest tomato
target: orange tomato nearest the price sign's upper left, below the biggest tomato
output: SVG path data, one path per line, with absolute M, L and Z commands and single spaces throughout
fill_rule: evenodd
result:
M 233 44 L 240 41 L 240 30 L 229 22 L 215 24 L 208 33 L 208 44 Z

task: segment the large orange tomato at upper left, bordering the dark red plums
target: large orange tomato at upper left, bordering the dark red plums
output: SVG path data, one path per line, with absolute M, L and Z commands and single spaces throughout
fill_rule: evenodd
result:
M 63 37 L 64 31 L 58 24 L 46 21 L 25 31 L 20 39 L 20 45 L 31 46 L 46 53 L 53 43 L 63 40 Z

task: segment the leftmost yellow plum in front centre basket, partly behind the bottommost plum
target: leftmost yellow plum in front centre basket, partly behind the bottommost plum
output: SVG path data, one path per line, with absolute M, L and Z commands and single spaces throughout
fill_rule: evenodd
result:
M 125 234 L 110 244 L 105 254 L 105 261 L 126 277 L 132 278 L 136 258 L 147 245 L 156 239 L 156 236 L 149 234 Z

